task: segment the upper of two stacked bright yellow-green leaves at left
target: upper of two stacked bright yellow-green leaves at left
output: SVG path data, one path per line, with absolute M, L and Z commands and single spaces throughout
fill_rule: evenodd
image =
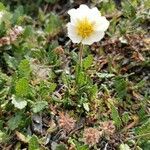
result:
M 29 78 L 31 69 L 30 69 L 30 63 L 27 59 L 24 59 L 20 62 L 18 67 L 18 72 L 20 77 L 26 77 Z

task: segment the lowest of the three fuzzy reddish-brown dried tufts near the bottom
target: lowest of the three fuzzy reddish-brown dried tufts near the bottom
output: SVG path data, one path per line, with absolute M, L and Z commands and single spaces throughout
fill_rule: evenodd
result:
M 83 133 L 83 139 L 85 144 L 93 146 L 99 142 L 101 132 L 94 128 L 86 128 Z

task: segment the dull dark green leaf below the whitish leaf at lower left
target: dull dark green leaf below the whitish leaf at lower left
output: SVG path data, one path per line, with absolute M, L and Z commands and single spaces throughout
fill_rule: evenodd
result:
M 14 130 L 18 128 L 22 120 L 22 116 L 20 114 L 16 114 L 8 121 L 8 127 L 10 130 Z

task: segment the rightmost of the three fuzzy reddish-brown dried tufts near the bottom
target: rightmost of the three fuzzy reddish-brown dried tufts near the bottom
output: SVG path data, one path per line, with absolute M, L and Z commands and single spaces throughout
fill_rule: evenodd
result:
M 103 134 L 108 136 L 113 135 L 116 130 L 112 121 L 105 121 L 100 123 L 100 125 L 100 129 L 102 130 Z

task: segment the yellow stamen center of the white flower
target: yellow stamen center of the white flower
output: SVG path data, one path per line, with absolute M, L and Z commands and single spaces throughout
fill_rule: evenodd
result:
M 91 23 L 86 17 L 82 20 L 78 20 L 76 26 L 77 34 L 85 39 L 93 33 L 93 26 L 93 23 Z

